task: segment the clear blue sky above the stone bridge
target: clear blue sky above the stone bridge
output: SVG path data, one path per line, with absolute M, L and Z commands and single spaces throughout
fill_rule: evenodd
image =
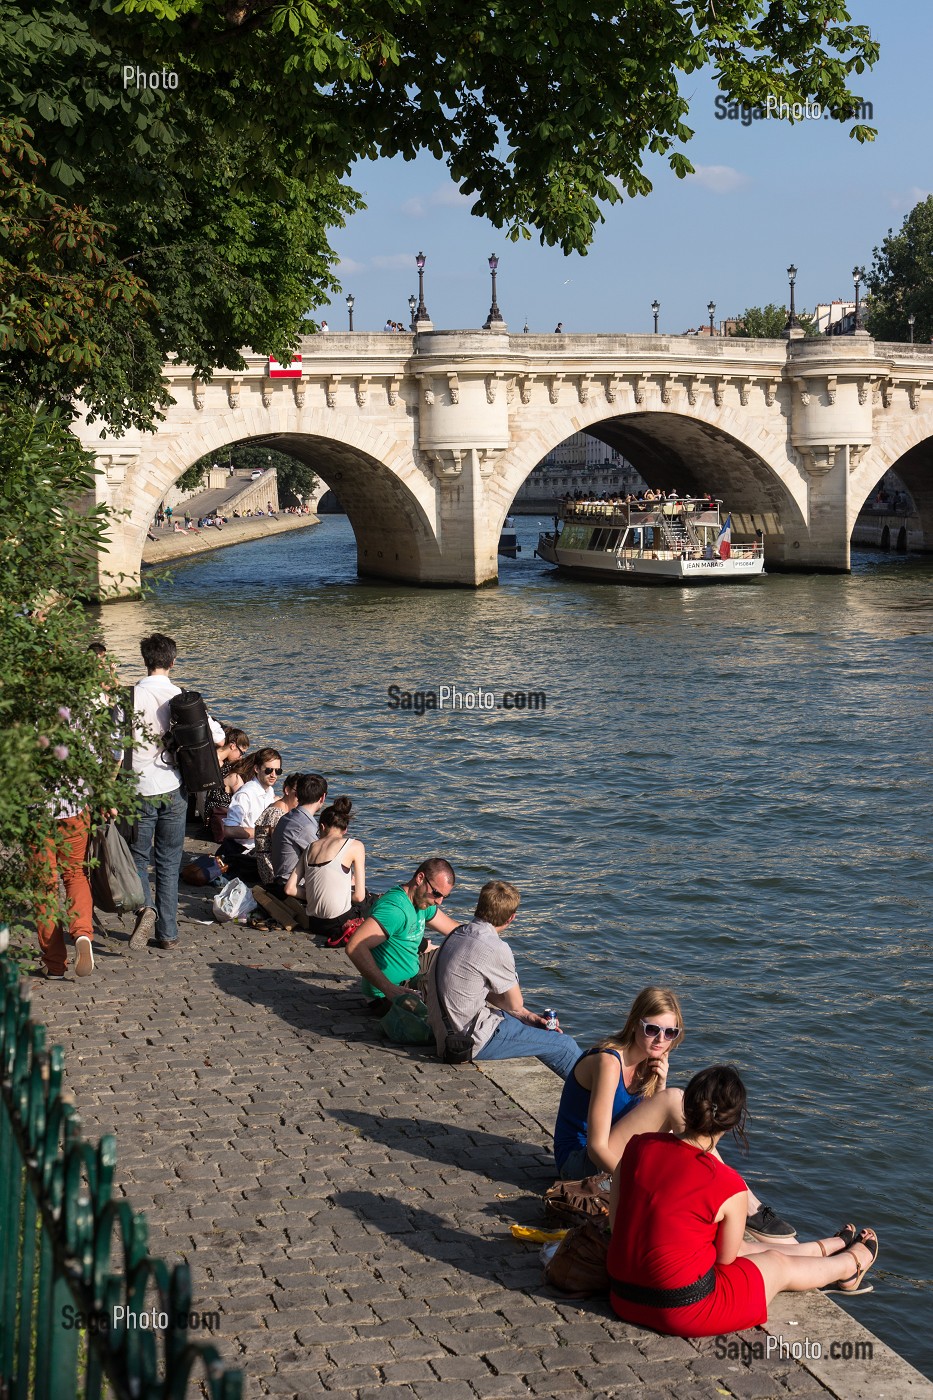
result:
M 853 3 L 855 21 L 881 43 L 871 73 L 855 90 L 874 106 L 876 141 L 859 146 L 829 120 L 717 120 L 709 74 L 685 80 L 695 129 L 686 154 L 696 175 L 678 181 L 663 161 L 649 167 L 651 195 L 607 210 L 586 258 L 535 241 L 511 244 L 469 213 L 445 165 L 375 161 L 356 168 L 367 209 L 335 231 L 343 294 L 331 329 L 347 326 L 345 295 L 356 298 L 354 329 L 408 323 L 417 291 L 415 253 L 427 255 L 426 302 L 436 328 L 479 326 L 489 311 L 488 258 L 499 255 L 499 304 L 510 330 L 679 332 L 749 305 L 787 298 L 786 269 L 799 267 L 797 309 L 852 297 L 852 267 L 871 263 L 888 228 L 933 192 L 933 106 L 929 0 Z M 905 330 L 906 339 L 906 330 Z

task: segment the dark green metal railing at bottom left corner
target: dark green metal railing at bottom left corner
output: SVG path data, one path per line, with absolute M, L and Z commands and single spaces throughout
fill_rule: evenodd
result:
M 189 1340 L 191 1274 L 147 1249 L 62 1092 L 18 973 L 0 956 L 0 1400 L 241 1400 L 242 1372 Z

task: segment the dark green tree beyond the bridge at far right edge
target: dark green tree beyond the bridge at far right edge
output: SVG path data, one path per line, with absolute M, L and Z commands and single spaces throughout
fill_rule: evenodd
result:
M 897 234 L 888 230 L 867 284 L 866 329 L 877 340 L 908 340 L 911 314 L 915 340 L 933 340 L 933 195 L 913 206 Z

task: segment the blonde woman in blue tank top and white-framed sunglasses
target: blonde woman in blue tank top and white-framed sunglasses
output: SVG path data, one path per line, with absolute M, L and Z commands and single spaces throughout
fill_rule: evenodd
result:
M 684 1092 L 667 1088 L 668 1056 L 682 1042 L 679 1001 L 667 987 L 646 987 L 622 1030 L 580 1056 L 553 1130 L 565 1180 L 614 1172 L 636 1133 L 682 1133 Z

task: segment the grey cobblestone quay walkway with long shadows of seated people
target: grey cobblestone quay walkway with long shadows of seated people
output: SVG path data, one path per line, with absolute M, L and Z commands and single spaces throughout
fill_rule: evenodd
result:
M 828 1298 L 783 1295 L 768 1330 L 867 1338 L 870 1362 L 720 1357 L 552 1294 L 510 1225 L 542 1224 L 556 1077 L 391 1046 L 342 951 L 200 923 L 209 893 L 182 886 L 175 952 L 127 955 L 106 917 L 94 976 L 36 979 L 34 1015 L 251 1400 L 933 1396 Z M 745 1340 L 763 1354 L 763 1331 Z

